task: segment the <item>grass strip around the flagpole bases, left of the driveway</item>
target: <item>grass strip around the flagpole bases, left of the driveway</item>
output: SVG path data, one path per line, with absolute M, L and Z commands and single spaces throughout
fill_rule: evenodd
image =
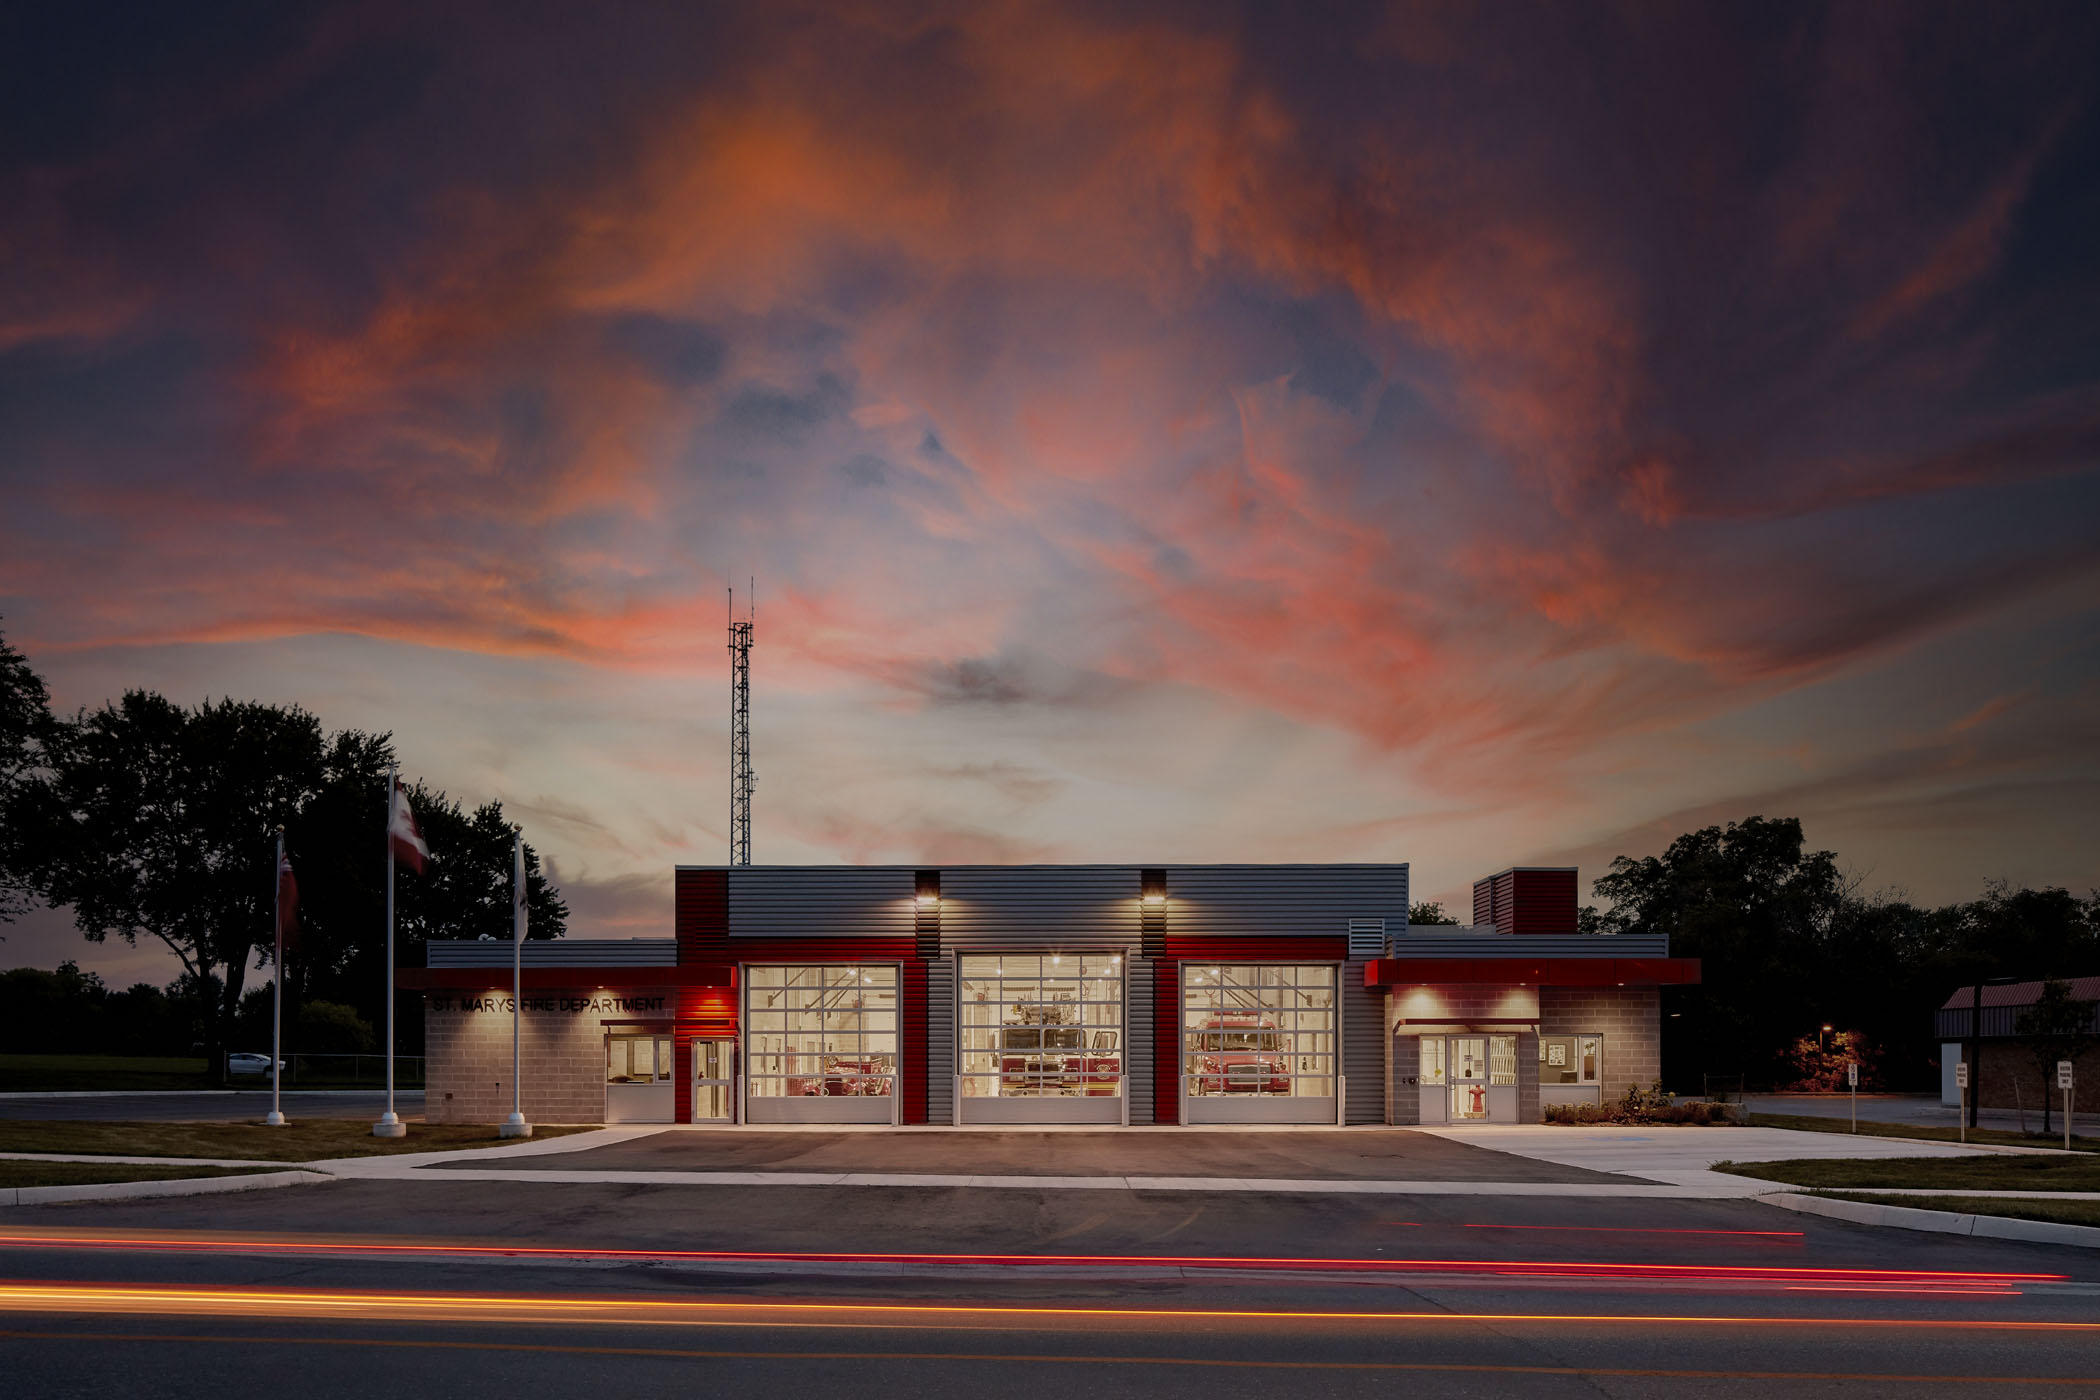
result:
M 533 1127 L 533 1138 L 582 1133 L 582 1127 Z M 0 1152 L 111 1152 L 122 1157 L 237 1157 L 244 1161 L 307 1163 L 323 1157 L 382 1157 L 388 1152 L 454 1152 L 494 1148 L 496 1125 L 410 1123 L 407 1138 L 374 1138 L 363 1119 L 294 1119 L 286 1127 L 260 1123 L 50 1123 L 0 1121 Z

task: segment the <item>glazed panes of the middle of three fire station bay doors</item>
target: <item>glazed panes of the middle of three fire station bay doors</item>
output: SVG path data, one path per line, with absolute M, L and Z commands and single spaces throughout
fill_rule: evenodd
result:
M 964 1098 L 1124 1091 L 1124 955 L 962 959 L 956 1018 Z

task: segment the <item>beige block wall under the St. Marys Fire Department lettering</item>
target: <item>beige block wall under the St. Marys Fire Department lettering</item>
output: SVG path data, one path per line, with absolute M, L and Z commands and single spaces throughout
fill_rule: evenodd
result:
M 605 1121 L 605 1026 L 573 1010 L 575 993 L 525 995 L 519 1026 L 525 1119 Z M 552 1003 L 552 1010 L 540 1010 Z M 565 1010 L 567 1007 L 567 1010 Z M 510 1117 L 510 997 L 424 999 L 426 1096 L 430 1123 L 502 1123 Z

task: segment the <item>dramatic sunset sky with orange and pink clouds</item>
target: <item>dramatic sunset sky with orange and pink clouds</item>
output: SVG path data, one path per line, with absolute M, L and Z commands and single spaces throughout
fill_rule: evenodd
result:
M 2100 884 L 2096 6 L 0 34 L 0 628 L 393 730 L 571 936 L 727 858 L 754 575 L 760 863 Z

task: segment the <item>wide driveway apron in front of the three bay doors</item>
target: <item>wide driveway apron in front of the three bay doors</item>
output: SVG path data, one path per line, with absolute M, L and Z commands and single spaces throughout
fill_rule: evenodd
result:
M 752 1131 L 615 1127 L 483 1152 L 365 1157 L 346 1178 L 632 1186 L 890 1186 L 1464 1196 L 1758 1196 L 1718 1159 L 1957 1157 L 1987 1148 L 1768 1127 L 1319 1131 Z

